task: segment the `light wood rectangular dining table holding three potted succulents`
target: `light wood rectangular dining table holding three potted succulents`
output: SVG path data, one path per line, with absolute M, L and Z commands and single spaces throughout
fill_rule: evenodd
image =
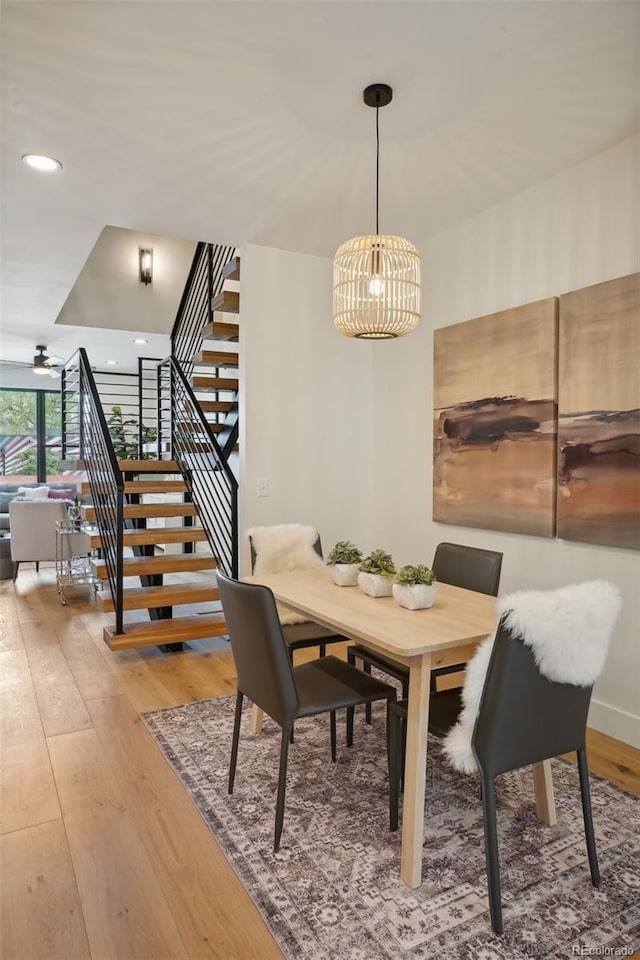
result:
M 407 610 L 392 597 L 373 599 L 359 587 L 337 587 L 327 569 L 243 578 L 269 587 L 279 603 L 409 667 L 400 875 L 407 886 L 422 882 L 427 729 L 431 671 L 464 663 L 496 626 L 496 600 L 486 594 L 438 584 L 433 607 Z M 261 712 L 254 710 L 258 732 Z M 555 822 L 549 761 L 534 767 L 538 816 Z

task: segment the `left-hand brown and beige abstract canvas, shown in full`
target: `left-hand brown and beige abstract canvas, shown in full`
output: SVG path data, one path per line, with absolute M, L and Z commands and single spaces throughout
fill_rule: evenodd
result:
M 558 301 L 434 334 L 433 519 L 555 532 Z

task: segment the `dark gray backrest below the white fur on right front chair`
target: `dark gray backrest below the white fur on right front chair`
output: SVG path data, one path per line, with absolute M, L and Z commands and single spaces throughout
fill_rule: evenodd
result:
M 473 732 L 479 767 L 495 777 L 583 750 L 592 689 L 543 677 L 531 648 L 501 622 Z

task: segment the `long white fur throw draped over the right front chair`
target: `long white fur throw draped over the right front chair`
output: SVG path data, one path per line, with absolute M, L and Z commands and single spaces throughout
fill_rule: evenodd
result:
M 590 687 L 600 676 L 622 599 L 604 580 L 557 590 L 512 593 L 497 602 L 499 617 L 531 647 L 540 673 L 555 683 Z M 475 773 L 471 737 L 487 675 L 493 637 L 482 641 L 467 666 L 458 722 L 443 749 L 460 773 Z

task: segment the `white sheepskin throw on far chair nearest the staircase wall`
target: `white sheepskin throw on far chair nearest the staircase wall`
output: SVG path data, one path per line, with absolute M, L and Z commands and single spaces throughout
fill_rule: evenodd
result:
M 314 543 L 318 531 L 304 523 L 280 523 L 272 527 L 252 527 L 247 530 L 256 554 L 253 572 L 287 573 L 293 570 L 317 570 L 324 567 Z M 280 623 L 306 623 L 303 615 L 277 604 Z

